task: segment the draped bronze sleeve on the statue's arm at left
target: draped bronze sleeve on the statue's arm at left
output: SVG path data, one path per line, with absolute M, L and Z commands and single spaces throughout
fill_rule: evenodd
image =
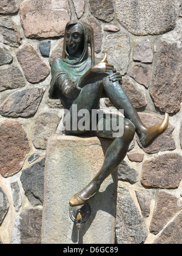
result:
M 49 97 L 58 99 L 58 91 L 61 91 L 68 99 L 74 99 L 76 94 L 81 91 L 78 84 L 79 78 L 75 82 L 72 82 L 67 71 L 61 66 L 60 59 L 56 59 L 52 65 Z

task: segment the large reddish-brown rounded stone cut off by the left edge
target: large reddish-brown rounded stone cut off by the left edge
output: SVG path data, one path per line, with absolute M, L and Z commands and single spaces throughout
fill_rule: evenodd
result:
M 8 120 L 0 126 L 0 174 L 10 177 L 19 172 L 30 151 L 29 140 L 21 123 Z

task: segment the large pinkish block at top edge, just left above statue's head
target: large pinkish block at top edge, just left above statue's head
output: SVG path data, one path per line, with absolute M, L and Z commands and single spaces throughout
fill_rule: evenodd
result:
M 21 23 L 25 37 L 61 37 L 70 21 L 68 0 L 24 0 L 21 4 Z

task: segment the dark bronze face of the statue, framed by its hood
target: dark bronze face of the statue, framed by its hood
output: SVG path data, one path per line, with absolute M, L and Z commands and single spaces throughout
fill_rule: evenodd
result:
M 83 49 L 83 30 L 79 24 L 66 32 L 66 45 L 70 55 L 78 54 Z

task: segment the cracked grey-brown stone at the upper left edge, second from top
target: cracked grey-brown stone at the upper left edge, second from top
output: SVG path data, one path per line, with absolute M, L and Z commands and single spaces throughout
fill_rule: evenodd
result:
M 0 17 L 0 43 L 17 48 L 21 44 L 18 29 L 10 18 Z

